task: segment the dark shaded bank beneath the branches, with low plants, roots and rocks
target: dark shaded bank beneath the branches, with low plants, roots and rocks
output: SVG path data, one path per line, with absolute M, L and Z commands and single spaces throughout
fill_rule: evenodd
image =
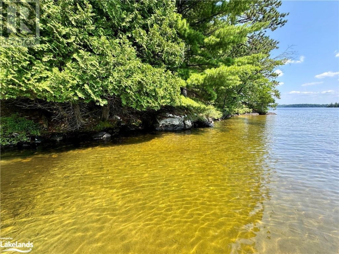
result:
M 152 133 L 154 131 L 181 131 L 190 130 L 193 128 L 214 127 L 214 121 L 222 121 L 240 115 L 260 114 L 256 112 L 238 112 L 218 119 L 197 118 L 196 121 L 191 121 L 187 119 L 187 115 L 173 115 L 164 113 L 158 116 L 151 128 L 136 125 L 126 125 L 123 123 L 121 118 L 116 116 L 117 119 L 119 119 L 119 123 L 117 123 L 115 127 L 109 126 L 103 129 L 100 128 L 100 131 L 84 129 L 72 132 L 41 132 L 39 125 L 35 124 L 32 120 L 27 120 L 26 118 L 19 117 L 19 115 L 16 114 L 13 117 L 3 117 L 3 123 L 5 122 L 4 125 L 7 125 L 8 122 L 14 122 L 14 125 L 26 129 L 21 129 L 21 131 L 18 128 L 11 129 L 10 132 L 13 131 L 13 133 L 7 135 L 7 138 L 9 138 L 8 140 L 5 140 L 4 145 L 0 145 L 0 149 L 1 151 L 13 151 L 17 149 L 36 149 L 39 146 L 48 148 L 63 145 L 80 145 L 97 141 L 107 142 L 123 136 Z M 265 115 L 276 115 L 276 113 L 267 112 Z

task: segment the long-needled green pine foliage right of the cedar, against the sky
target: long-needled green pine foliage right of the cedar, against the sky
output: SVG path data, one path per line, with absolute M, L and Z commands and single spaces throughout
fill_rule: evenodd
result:
M 280 5 L 276 0 L 178 1 L 188 25 L 182 35 L 185 61 L 178 72 L 188 96 L 229 113 L 241 104 L 257 112 L 273 106 L 280 96 L 274 70 L 285 60 L 270 58 L 278 42 L 265 31 L 286 23 Z

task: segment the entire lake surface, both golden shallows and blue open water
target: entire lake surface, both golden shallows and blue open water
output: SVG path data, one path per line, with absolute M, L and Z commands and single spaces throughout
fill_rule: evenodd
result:
M 339 111 L 276 113 L 2 153 L 1 237 L 52 254 L 338 253 Z

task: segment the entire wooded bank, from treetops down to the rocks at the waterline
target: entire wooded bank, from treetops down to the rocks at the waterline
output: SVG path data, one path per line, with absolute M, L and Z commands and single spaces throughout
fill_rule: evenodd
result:
M 33 2 L 12 4 L 34 9 Z M 23 36 L 19 29 L 0 37 L 0 145 L 212 127 L 229 115 L 266 114 L 280 98 L 277 70 L 294 56 L 291 48 L 271 55 L 279 42 L 267 32 L 287 22 L 280 5 L 42 1 L 33 22 L 38 44 L 9 44 L 5 38 Z

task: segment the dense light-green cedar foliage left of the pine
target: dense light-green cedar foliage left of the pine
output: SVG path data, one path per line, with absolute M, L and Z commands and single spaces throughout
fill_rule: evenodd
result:
M 184 44 L 173 9 L 168 1 L 42 1 L 40 45 L 0 48 L 0 98 L 176 104 Z

